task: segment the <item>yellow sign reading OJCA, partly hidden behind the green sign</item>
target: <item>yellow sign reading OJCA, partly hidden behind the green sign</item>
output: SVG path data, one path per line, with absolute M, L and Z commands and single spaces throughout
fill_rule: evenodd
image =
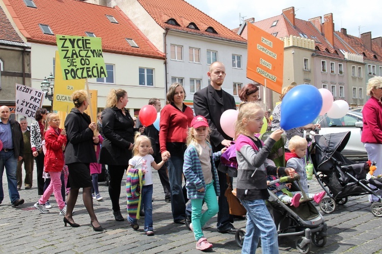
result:
M 54 94 L 53 94 L 53 108 L 57 111 L 70 112 L 74 107 L 73 101 L 70 99 L 72 93 L 76 90 L 85 88 L 85 79 L 64 80 L 61 72 L 61 63 L 59 59 L 59 52 L 56 51 L 56 69 L 54 77 Z

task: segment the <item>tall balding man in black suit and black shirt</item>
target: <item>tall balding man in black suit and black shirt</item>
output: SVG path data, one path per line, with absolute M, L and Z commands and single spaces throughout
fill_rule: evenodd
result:
M 210 141 L 213 152 L 222 150 L 225 146 L 231 145 L 232 138 L 224 133 L 220 125 L 220 117 L 227 109 L 236 109 L 235 99 L 232 95 L 222 89 L 224 78 L 226 77 L 226 68 L 220 62 L 214 62 L 210 65 L 207 72 L 211 79 L 210 86 L 199 90 L 194 94 L 195 115 L 204 116 L 211 129 Z M 216 163 L 216 168 L 219 162 Z M 220 196 L 219 212 L 217 213 L 217 231 L 220 233 L 235 234 L 237 229 L 233 227 L 233 217 L 229 213 L 227 197 L 224 195 L 227 189 L 226 174 L 220 171 Z M 232 182 L 232 178 L 231 178 Z

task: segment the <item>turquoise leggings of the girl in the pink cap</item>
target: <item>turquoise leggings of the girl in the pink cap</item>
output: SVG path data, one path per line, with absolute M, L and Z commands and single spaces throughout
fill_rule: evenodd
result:
M 202 214 L 203 201 L 206 202 L 207 204 L 207 211 L 205 211 Z M 213 181 L 206 185 L 204 198 L 192 199 L 191 205 L 192 205 L 191 222 L 193 223 L 195 239 L 198 241 L 200 238 L 203 237 L 202 227 L 219 210 L 219 206 L 217 205 L 216 192 L 213 187 Z

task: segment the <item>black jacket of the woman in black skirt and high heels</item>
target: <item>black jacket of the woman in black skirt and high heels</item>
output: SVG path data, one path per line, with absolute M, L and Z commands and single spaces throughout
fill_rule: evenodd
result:
M 65 164 L 81 162 L 96 162 L 92 129 L 89 128 L 90 117 L 77 108 L 72 108 L 65 119 L 67 145 L 65 149 Z

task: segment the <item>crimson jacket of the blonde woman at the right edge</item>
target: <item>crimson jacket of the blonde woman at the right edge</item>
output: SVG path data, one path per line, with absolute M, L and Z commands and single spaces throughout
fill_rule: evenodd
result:
M 382 144 L 382 104 L 371 96 L 362 109 L 362 116 L 361 142 Z

